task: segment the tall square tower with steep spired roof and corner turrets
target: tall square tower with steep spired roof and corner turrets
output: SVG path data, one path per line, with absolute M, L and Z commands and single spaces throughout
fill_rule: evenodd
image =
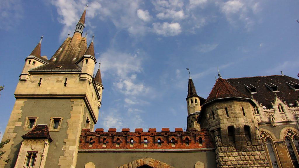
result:
M 81 129 L 94 130 L 103 91 L 100 69 L 93 77 L 93 41 L 87 48 L 82 37 L 85 14 L 50 60 L 40 54 L 41 41 L 25 59 L 3 135 L 11 141 L 2 157 L 12 161 L 0 167 L 76 167 Z

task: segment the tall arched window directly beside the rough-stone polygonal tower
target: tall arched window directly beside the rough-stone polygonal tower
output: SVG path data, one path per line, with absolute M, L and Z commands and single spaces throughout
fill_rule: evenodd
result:
M 268 136 L 268 134 L 266 134 L 265 132 L 261 132 L 260 137 L 263 141 L 263 145 L 264 145 L 264 148 L 265 148 L 265 152 L 266 152 L 268 161 L 269 161 L 269 163 L 271 163 L 270 167 L 271 168 L 278 168 L 279 167 L 278 164 L 280 164 L 280 163 L 279 162 L 277 163 L 277 160 L 276 160 L 276 157 L 278 155 L 277 155 L 275 146 L 273 144 L 272 138 L 270 138 Z

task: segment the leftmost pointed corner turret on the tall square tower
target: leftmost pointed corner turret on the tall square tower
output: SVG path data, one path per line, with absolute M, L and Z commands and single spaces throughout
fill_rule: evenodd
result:
M 41 65 L 48 64 L 49 60 L 45 59 L 44 57 L 41 57 L 41 44 L 42 44 L 42 39 L 44 36 L 41 37 L 39 43 L 36 45 L 36 47 L 33 49 L 31 54 L 26 57 L 25 59 L 25 65 L 22 71 L 22 74 L 20 75 L 19 80 L 28 80 L 30 75 L 29 72 L 30 69 L 36 68 Z

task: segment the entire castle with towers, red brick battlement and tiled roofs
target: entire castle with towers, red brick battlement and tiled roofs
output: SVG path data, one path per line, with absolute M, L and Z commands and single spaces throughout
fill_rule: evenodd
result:
M 207 99 L 190 78 L 187 129 L 95 129 L 103 84 L 93 40 L 74 35 L 50 60 L 41 41 L 26 57 L 4 132 L 5 168 L 299 167 L 299 80 L 285 75 L 216 79 Z

